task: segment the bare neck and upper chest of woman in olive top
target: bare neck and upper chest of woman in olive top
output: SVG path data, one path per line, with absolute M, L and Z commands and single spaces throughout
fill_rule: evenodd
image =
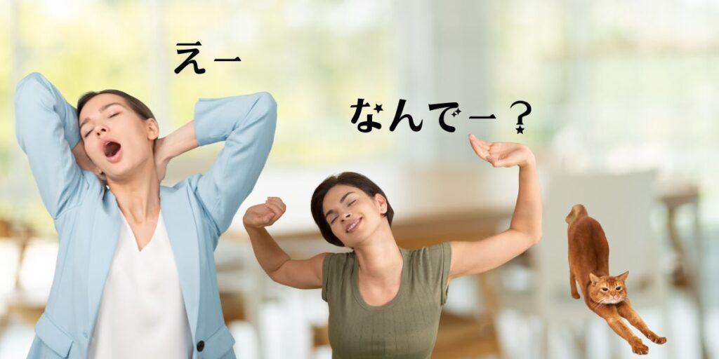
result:
M 354 247 L 359 273 L 372 281 L 393 281 L 397 278 L 396 274 L 402 271 L 404 260 L 400 248 L 389 225 L 384 227 L 380 226 L 380 229 L 370 236 L 370 241 Z

